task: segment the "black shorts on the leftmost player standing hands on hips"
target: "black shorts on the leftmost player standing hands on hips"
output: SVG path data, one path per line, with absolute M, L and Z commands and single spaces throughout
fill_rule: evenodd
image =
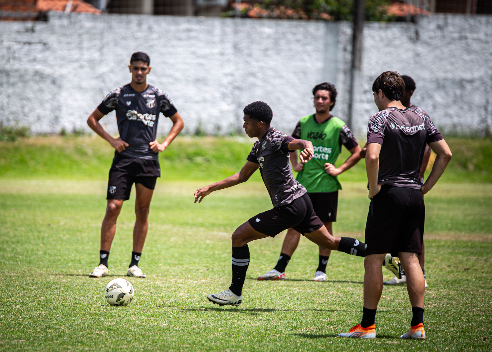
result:
M 149 189 L 155 188 L 160 177 L 158 160 L 135 158 L 118 154 L 109 169 L 108 195 L 106 199 L 130 199 L 133 183 L 141 183 Z

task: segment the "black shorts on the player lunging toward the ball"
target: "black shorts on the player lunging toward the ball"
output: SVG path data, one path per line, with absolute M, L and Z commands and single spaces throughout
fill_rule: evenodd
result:
M 323 226 L 306 193 L 292 203 L 260 212 L 248 222 L 253 229 L 270 237 L 290 227 L 304 235 Z

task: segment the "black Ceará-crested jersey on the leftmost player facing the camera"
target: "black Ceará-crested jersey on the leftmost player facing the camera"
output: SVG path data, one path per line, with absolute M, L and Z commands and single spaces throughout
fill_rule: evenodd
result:
M 116 110 L 118 132 L 129 144 L 120 154 L 156 160 L 158 155 L 149 143 L 155 141 L 157 135 L 159 112 L 170 117 L 178 111 L 166 93 L 150 84 L 140 93 L 130 84 L 116 88 L 97 108 L 105 115 Z

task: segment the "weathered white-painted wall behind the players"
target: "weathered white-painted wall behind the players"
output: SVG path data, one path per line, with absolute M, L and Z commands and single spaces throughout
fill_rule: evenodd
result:
M 412 102 L 446 132 L 491 131 L 492 16 L 436 15 L 418 25 L 367 23 L 354 131 L 365 135 L 372 80 L 384 70 L 417 82 Z M 338 87 L 345 119 L 350 23 L 51 13 L 49 22 L 0 22 L 0 121 L 34 133 L 87 128 L 91 111 L 130 79 L 132 52 L 150 54 L 148 81 L 166 91 L 185 132 L 238 131 L 243 107 L 263 100 L 291 132 L 313 111 L 312 87 Z M 114 113 L 101 120 L 117 131 Z M 161 133 L 170 128 L 162 118 Z

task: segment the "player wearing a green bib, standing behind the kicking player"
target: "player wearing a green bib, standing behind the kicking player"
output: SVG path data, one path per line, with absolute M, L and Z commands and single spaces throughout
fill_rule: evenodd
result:
M 332 222 L 337 221 L 338 190 L 341 189 L 338 175 L 357 164 L 361 147 L 350 129 L 330 111 L 335 106 L 337 89 L 332 83 L 321 83 L 312 90 L 316 113 L 304 116 L 297 123 L 292 136 L 311 141 L 314 156 L 306 164 L 298 162 L 297 151 L 292 152 L 290 160 L 294 171 L 299 172 L 297 181 L 307 189 L 314 212 L 321 219 L 330 234 L 333 234 Z M 351 156 L 335 167 L 335 162 L 344 145 Z M 259 276 L 258 280 L 283 280 L 285 267 L 299 244 L 301 234 L 290 228 L 285 235 L 282 251 L 276 267 Z M 319 265 L 314 281 L 326 281 L 326 264 L 331 250 L 319 248 Z

